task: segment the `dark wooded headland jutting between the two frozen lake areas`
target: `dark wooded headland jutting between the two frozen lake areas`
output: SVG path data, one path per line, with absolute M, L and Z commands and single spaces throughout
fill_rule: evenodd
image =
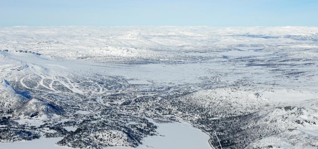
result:
M 104 106 L 100 112 L 74 114 L 71 117 L 72 119 L 68 121 L 49 121 L 41 125 L 41 129 L 49 128 L 53 131 L 45 132 L 44 136 L 64 137 L 57 143 L 60 146 L 99 149 L 115 145 L 135 147 L 142 144 L 144 137 L 156 135 L 156 125 L 145 118 L 126 114 L 120 107 Z M 65 127 L 76 127 L 77 129 L 66 131 Z M 112 134 L 111 138 L 101 137 L 102 134 L 112 130 L 121 132 L 121 134 Z M 122 134 L 127 138 L 122 137 Z M 115 143 L 110 144 L 112 138 Z

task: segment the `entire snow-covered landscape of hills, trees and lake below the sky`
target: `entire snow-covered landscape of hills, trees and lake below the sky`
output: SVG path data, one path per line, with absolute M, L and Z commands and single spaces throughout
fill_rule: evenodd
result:
M 0 148 L 316 149 L 318 27 L 1 27 Z

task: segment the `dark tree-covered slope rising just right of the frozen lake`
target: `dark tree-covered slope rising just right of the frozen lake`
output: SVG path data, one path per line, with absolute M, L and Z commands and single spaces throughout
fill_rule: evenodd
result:
M 204 104 L 198 104 L 196 102 L 190 102 L 185 100 L 189 97 L 169 98 L 170 104 L 173 109 L 182 114 L 179 117 L 191 121 L 193 124 L 203 128 L 206 132 L 209 132 L 211 136 L 217 136 L 220 140 L 222 147 L 226 148 L 244 148 L 252 141 L 272 136 L 280 133 L 281 131 L 271 125 L 258 123 L 263 118 L 264 112 L 272 107 L 264 106 L 261 109 L 255 107 L 246 106 L 246 109 L 241 109 L 241 106 L 230 106 L 231 108 L 225 108 L 219 110 L 218 103 L 212 102 L 211 105 L 206 106 Z M 209 97 L 205 97 L 208 102 Z M 223 100 L 223 104 L 229 100 Z M 249 108 L 248 108 L 249 107 Z M 194 117 L 193 115 L 196 115 Z M 214 146 L 219 146 L 218 139 L 212 137 L 210 140 Z

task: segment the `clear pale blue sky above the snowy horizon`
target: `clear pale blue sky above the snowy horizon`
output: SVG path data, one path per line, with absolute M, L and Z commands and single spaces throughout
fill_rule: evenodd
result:
M 0 0 L 0 26 L 318 26 L 318 0 Z

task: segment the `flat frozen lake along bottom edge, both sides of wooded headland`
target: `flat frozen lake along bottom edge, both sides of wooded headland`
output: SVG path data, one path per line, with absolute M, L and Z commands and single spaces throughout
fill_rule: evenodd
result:
M 144 138 L 143 145 L 137 146 L 137 149 L 211 149 L 208 143 L 210 138 L 201 130 L 192 127 L 188 123 L 156 123 L 159 126 L 157 132 L 163 136 L 152 136 Z M 66 147 L 56 146 L 55 143 L 62 138 L 40 138 L 32 141 L 0 143 L 0 149 L 62 149 Z M 107 147 L 105 149 L 134 149 L 129 147 Z

